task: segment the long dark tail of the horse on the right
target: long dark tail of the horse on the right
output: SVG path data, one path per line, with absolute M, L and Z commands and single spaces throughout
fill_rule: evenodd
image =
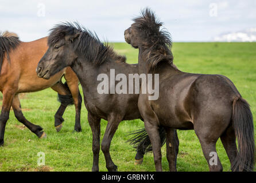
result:
M 243 98 L 235 98 L 232 104 L 232 125 L 238 141 L 238 153 L 232 170 L 253 171 L 255 165 L 255 144 L 253 115 L 250 105 Z

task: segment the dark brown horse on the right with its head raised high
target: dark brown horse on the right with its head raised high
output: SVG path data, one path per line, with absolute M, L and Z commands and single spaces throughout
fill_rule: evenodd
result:
M 149 100 L 150 94 L 140 94 L 138 100 L 139 112 L 152 142 L 156 170 L 162 170 L 157 130 L 161 125 L 166 129 L 166 142 L 174 138 L 170 128 L 194 129 L 211 171 L 222 170 L 216 153 L 218 138 L 222 140 L 233 171 L 252 171 L 255 144 L 249 104 L 223 75 L 191 74 L 174 68 L 172 42 L 169 33 L 160 30 L 161 25 L 154 13 L 145 9 L 125 30 L 126 42 L 139 49 L 139 73 L 159 74 L 158 100 Z M 169 160 L 168 151 L 166 156 Z

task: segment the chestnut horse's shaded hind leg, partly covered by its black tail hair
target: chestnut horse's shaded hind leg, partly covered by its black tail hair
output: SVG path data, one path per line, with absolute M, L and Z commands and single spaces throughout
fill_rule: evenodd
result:
M 66 87 L 63 85 L 63 83 L 57 82 L 55 85 L 51 87 L 55 92 L 59 93 L 62 96 L 68 96 L 70 93 L 66 89 Z M 59 109 L 57 110 L 55 114 L 55 129 L 57 132 L 60 132 L 62 128 L 62 123 L 64 122 L 63 114 L 65 112 L 65 109 L 67 108 L 68 104 L 66 102 L 61 102 Z

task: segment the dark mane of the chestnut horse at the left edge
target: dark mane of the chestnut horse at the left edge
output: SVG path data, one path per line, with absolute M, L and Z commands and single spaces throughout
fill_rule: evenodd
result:
M 5 54 L 7 56 L 7 61 L 10 63 L 9 52 L 14 50 L 20 42 L 18 35 L 15 33 L 10 33 L 9 31 L 0 33 L 0 73 Z

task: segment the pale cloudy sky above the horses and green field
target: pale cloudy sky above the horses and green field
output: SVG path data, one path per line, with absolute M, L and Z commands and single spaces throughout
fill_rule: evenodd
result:
M 103 40 L 124 42 L 124 30 L 145 7 L 156 13 L 174 42 L 212 41 L 256 27 L 255 0 L 10 0 L 0 2 L 0 31 L 33 41 L 61 21 L 77 21 Z

